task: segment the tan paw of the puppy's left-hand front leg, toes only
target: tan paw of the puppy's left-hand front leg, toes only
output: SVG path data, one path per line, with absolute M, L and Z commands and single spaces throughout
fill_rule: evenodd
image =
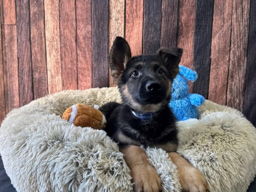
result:
M 160 192 L 161 180 L 152 166 L 140 165 L 131 168 L 135 192 Z

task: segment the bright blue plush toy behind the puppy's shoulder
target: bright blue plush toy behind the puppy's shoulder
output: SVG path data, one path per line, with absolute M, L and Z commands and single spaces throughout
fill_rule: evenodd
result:
M 187 67 L 180 66 L 180 72 L 172 84 L 172 99 L 169 106 L 176 118 L 183 121 L 190 118 L 198 119 L 198 106 L 204 103 L 204 97 L 189 93 L 189 81 L 195 81 L 198 76 L 197 73 Z

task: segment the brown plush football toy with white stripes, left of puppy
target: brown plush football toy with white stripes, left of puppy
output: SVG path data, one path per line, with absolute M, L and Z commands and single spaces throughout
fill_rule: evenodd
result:
M 107 121 L 98 108 L 98 105 L 94 108 L 84 104 L 72 105 L 64 111 L 62 118 L 76 126 L 104 129 Z

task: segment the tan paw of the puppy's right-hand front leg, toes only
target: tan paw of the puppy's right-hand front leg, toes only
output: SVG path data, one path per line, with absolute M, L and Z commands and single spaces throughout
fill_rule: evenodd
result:
M 193 166 L 179 170 L 182 192 L 208 192 L 209 186 L 204 176 Z

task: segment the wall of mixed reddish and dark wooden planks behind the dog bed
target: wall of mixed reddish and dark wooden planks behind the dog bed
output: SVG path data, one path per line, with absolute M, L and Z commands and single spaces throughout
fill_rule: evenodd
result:
M 256 125 L 255 0 L 0 0 L 0 121 L 64 89 L 115 86 L 116 35 L 132 55 L 182 47 L 190 90 Z

